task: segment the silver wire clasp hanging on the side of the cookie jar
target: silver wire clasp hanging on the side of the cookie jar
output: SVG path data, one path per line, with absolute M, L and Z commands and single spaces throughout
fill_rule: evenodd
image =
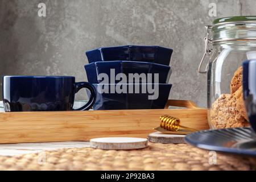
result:
M 208 25 L 205 26 L 206 31 L 207 31 L 207 36 L 204 37 L 204 56 L 201 59 L 201 62 L 199 64 L 199 68 L 198 68 L 198 72 L 199 73 L 207 73 L 208 72 L 208 68 L 209 68 L 209 57 L 212 54 L 212 48 L 209 48 L 209 44 L 212 43 L 212 38 L 209 37 L 209 30 L 212 29 L 212 26 Z M 205 59 L 207 59 L 208 57 L 208 63 L 207 66 L 205 67 L 204 71 L 201 71 L 201 67 L 205 61 Z

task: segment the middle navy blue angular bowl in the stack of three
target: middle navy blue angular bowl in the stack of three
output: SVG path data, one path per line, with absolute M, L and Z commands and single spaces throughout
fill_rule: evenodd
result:
M 84 67 L 88 81 L 92 84 L 100 84 L 103 80 L 100 76 L 101 73 L 108 75 L 108 78 L 110 78 L 112 73 L 114 77 L 119 73 L 123 73 L 129 83 L 134 82 L 134 78 L 129 76 L 129 74 L 137 73 L 139 76 L 142 76 L 141 82 L 166 84 L 169 82 L 172 73 L 171 67 L 167 65 L 139 61 L 98 61 L 87 64 Z M 118 82 L 119 80 L 115 80 L 115 84 Z

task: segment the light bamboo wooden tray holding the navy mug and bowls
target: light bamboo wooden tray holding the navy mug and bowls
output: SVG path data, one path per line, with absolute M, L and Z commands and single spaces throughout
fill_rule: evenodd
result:
M 168 106 L 186 109 L 167 109 Z M 166 109 L 0 112 L 0 143 L 145 138 L 159 126 L 159 117 L 164 114 L 180 118 L 183 126 L 209 129 L 207 109 L 191 101 L 169 100 Z

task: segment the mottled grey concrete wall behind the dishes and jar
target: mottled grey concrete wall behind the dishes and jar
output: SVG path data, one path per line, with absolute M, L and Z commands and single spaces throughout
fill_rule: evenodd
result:
M 40 2 L 46 3 L 46 18 L 38 16 Z M 211 2 L 217 17 L 208 15 Z M 206 106 L 207 80 L 197 73 L 204 26 L 221 16 L 255 15 L 255 6 L 255 0 L 0 0 L 0 75 L 85 81 L 88 49 L 166 46 L 174 49 L 170 98 Z

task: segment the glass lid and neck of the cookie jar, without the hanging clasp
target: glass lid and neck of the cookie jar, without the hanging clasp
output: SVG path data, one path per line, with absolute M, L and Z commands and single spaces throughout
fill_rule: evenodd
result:
M 213 21 L 212 43 L 256 40 L 256 16 L 231 16 Z

